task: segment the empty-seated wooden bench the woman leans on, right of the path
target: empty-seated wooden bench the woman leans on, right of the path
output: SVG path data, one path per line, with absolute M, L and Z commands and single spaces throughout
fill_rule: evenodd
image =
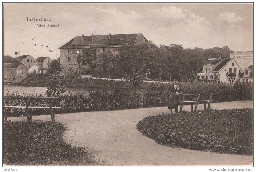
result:
M 209 100 L 200 100 L 200 96 L 201 95 L 210 95 Z M 185 100 L 185 96 L 186 97 L 187 96 L 197 96 L 197 100 L 195 100 L 195 101 L 184 101 Z M 182 101 L 179 101 L 179 104 L 180 104 L 180 110 L 179 111 L 182 111 L 184 103 L 191 104 L 191 112 L 193 112 L 193 105 L 194 104 L 195 104 L 194 112 L 196 112 L 198 104 L 204 104 L 204 110 L 206 110 L 206 103 L 208 103 L 207 110 L 210 110 L 211 98 L 212 98 L 212 94 L 184 94 L 183 98 L 182 98 Z

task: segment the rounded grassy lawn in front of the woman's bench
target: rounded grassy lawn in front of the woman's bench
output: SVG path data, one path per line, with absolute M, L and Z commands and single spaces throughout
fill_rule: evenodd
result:
M 137 129 L 166 146 L 253 155 L 253 109 L 148 116 L 137 124 Z

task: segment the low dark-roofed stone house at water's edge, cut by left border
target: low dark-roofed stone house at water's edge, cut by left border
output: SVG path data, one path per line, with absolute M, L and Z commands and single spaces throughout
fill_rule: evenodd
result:
M 16 83 L 28 76 L 28 68 L 24 63 L 4 63 L 4 83 Z

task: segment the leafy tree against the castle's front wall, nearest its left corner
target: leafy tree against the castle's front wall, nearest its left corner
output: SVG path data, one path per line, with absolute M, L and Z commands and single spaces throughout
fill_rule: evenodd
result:
M 78 58 L 78 62 L 79 62 L 79 67 L 81 69 L 82 66 L 86 66 L 89 64 L 89 66 L 91 67 L 91 70 L 93 72 L 93 61 L 96 60 L 96 55 L 95 55 L 95 51 L 92 47 L 90 48 L 84 48 L 83 49 L 83 54 L 79 54 Z

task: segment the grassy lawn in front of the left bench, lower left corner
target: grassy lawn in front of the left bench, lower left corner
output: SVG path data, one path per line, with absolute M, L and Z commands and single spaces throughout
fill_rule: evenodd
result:
M 6 165 L 107 165 L 84 148 L 63 140 L 65 126 L 57 122 L 5 122 Z

